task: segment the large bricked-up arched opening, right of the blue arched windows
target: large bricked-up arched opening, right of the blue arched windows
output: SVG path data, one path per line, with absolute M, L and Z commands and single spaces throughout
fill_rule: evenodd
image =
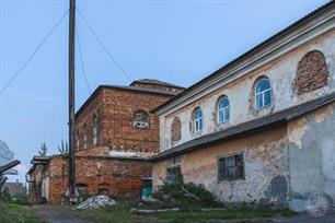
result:
M 327 66 L 324 55 L 313 50 L 308 52 L 298 63 L 293 90 L 298 95 L 327 85 Z

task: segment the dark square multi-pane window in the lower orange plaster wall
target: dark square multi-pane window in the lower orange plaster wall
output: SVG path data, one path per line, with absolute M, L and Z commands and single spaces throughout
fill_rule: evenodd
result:
M 243 153 L 218 159 L 218 180 L 244 179 Z

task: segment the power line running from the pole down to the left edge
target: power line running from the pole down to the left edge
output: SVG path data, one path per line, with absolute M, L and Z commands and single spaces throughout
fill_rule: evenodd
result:
M 41 42 L 39 45 L 35 48 L 33 54 L 27 58 L 27 60 L 19 68 L 19 70 L 14 73 L 14 75 L 7 82 L 7 84 L 1 89 L 0 96 L 4 93 L 4 91 L 11 85 L 11 83 L 18 78 L 18 75 L 21 73 L 21 71 L 30 63 L 30 61 L 34 58 L 34 56 L 37 54 L 37 51 L 43 47 L 43 45 L 46 43 L 46 40 L 50 37 L 50 35 L 54 33 L 54 31 L 60 25 L 61 21 L 66 17 L 66 15 L 69 13 L 69 10 L 67 10 L 63 15 L 60 17 L 60 20 L 55 24 L 55 26 L 48 32 L 48 34 L 44 37 L 44 39 Z

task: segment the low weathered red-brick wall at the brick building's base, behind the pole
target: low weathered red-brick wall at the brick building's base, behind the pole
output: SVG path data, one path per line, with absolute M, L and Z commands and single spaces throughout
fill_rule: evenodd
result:
M 77 156 L 76 184 L 88 186 L 88 196 L 108 189 L 114 198 L 138 197 L 141 177 L 151 176 L 151 164 L 142 161 Z M 68 157 L 54 156 L 49 165 L 49 202 L 58 203 L 68 187 Z

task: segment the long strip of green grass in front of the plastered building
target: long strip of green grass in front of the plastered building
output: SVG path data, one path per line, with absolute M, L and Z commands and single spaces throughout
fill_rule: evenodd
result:
M 137 201 L 123 201 L 114 207 L 99 210 L 78 210 L 81 218 L 93 222 L 172 222 L 192 223 L 205 220 L 238 220 L 238 222 L 269 222 L 273 216 L 291 216 L 294 212 L 290 210 L 272 210 L 264 208 L 240 207 L 224 211 L 199 211 L 183 210 L 180 212 L 165 212 L 155 214 L 131 214 L 129 209 Z

